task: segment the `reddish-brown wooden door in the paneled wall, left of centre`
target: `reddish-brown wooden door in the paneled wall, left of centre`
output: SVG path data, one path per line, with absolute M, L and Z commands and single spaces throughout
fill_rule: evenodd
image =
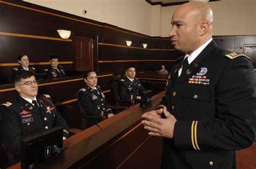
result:
M 75 70 L 93 69 L 93 39 L 75 36 Z

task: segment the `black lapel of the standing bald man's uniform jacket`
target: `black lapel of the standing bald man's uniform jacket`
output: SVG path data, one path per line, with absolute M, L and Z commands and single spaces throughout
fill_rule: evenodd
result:
M 179 85 L 180 83 L 183 83 L 184 81 L 188 81 L 188 78 L 190 78 L 192 75 L 196 74 L 200 71 L 200 65 L 203 64 L 203 62 L 206 60 L 206 58 L 211 54 L 211 52 L 217 47 L 215 44 L 215 41 L 212 40 L 210 44 L 208 44 L 204 50 L 197 56 L 196 59 L 194 59 L 190 65 L 188 65 L 188 69 L 186 73 L 183 76 L 180 76 L 177 78 L 177 82 L 173 84 L 172 87 Z M 178 70 L 176 71 L 178 73 Z

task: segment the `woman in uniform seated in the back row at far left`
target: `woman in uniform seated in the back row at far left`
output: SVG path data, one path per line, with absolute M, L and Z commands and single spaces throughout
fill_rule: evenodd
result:
M 31 71 L 33 73 L 36 73 L 36 69 L 35 67 L 31 67 L 29 66 L 29 57 L 28 55 L 18 55 L 18 63 L 19 67 L 17 68 L 13 68 L 12 69 L 12 75 L 14 75 L 15 73 L 25 70 L 25 71 Z

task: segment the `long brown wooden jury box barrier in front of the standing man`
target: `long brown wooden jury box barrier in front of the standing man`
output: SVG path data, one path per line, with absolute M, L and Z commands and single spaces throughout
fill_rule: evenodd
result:
M 147 135 L 140 123 L 144 112 L 153 110 L 165 94 L 144 108 L 139 104 L 64 140 L 68 147 L 38 168 L 159 168 L 162 138 Z M 21 168 L 21 164 L 9 168 Z

